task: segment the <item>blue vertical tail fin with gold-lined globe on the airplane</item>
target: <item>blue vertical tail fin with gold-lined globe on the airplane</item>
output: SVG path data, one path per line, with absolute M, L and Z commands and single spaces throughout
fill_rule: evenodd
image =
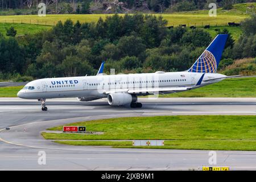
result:
M 216 73 L 228 34 L 218 34 L 188 72 Z

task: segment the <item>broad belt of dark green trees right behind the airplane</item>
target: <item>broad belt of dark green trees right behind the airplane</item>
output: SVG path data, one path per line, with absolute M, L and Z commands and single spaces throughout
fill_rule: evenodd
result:
M 256 15 L 242 22 L 237 42 L 227 30 L 218 32 L 229 34 L 220 68 L 234 59 L 256 57 L 255 22 Z M 0 79 L 95 75 L 102 61 L 105 73 L 110 68 L 116 73 L 187 70 L 212 37 L 203 29 L 166 24 L 161 16 L 115 14 L 97 23 L 68 19 L 37 34 L 0 35 Z

